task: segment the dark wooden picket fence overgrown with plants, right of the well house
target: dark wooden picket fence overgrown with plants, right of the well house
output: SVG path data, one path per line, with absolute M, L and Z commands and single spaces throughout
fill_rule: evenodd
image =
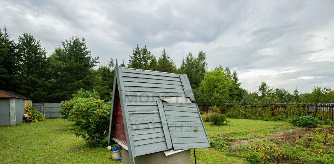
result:
M 214 104 L 197 104 L 200 111 L 208 112 Z M 243 106 L 244 111 L 251 111 L 253 116 L 280 116 L 291 118 L 295 115 L 310 115 L 319 120 L 333 120 L 334 103 L 302 103 L 302 104 L 220 104 L 221 113 L 226 114 L 233 106 Z M 270 111 L 269 111 L 270 110 Z M 268 113 L 270 113 L 268 115 Z M 266 115 L 265 115 L 266 114 Z

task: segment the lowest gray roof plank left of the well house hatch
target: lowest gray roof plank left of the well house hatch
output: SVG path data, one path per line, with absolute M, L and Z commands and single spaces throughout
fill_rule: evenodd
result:
M 159 151 L 168 150 L 166 142 L 156 142 L 146 145 L 135 146 L 136 153 L 138 155 L 151 154 Z

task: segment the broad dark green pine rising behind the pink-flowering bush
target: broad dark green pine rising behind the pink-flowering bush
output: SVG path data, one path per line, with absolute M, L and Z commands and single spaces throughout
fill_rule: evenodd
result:
M 70 98 L 78 89 L 93 89 L 95 78 L 93 67 L 99 57 L 93 58 L 88 50 L 85 38 L 76 36 L 61 42 L 62 48 L 54 51 L 54 92 L 51 96 L 58 101 Z

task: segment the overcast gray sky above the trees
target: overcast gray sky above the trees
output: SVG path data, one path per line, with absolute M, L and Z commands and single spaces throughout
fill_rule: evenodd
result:
M 128 61 L 139 44 L 177 67 L 191 51 L 208 69 L 236 70 L 241 86 L 262 81 L 290 92 L 334 86 L 334 1 L 0 1 L 0 23 L 17 40 L 32 33 L 48 54 L 84 37 L 100 64 Z

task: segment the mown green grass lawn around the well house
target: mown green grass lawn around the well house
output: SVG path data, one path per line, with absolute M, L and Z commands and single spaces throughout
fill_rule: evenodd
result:
M 249 139 L 265 137 L 274 131 L 289 129 L 287 122 L 228 119 L 230 125 L 204 122 L 209 139 Z M 37 123 L 0 126 L 0 163 L 121 163 L 111 159 L 106 148 L 90 148 L 67 132 L 70 122 L 57 118 Z M 194 162 L 191 150 L 191 162 Z M 213 148 L 196 149 L 196 159 L 204 163 L 247 163 Z

